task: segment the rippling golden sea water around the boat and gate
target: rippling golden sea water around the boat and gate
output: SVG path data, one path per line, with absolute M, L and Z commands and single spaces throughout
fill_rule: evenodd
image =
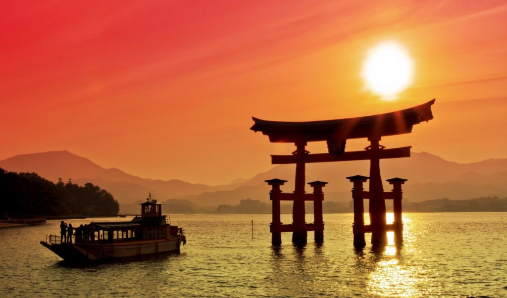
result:
M 68 266 L 39 244 L 46 234 L 59 232 L 59 220 L 0 229 L 0 295 L 507 297 L 505 212 L 407 213 L 404 246 L 389 245 L 381 252 L 369 245 L 354 251 L 352 214 L 324 214 L 321 246 L 313 243 L 312 232 L 303 248 L 283 233 L 278 249 L 270 245 L 271 215 L 171 219 L 187 234 L 180 254 L 89 267 Z M 67 222 L 77 227 L 91 220 Z M 291 221 L 291 215 L 282 214 L 282 222 Z

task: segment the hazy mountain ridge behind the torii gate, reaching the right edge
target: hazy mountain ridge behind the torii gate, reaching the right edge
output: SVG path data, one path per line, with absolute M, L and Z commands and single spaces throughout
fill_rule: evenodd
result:
M 393 177 L 409 179 L 403 188 L 404 198 L 412 202 L 439 198 L 461 200 L 484 196 L 507 197 L 507 159 L 460 164 L 421 152 L 412 153 L 410 158 L 382 160 L 380 166 L 385 191 L 391 190 L 391 185 L 385 179 Z M 346 177 L 356 174 L 369 176 L 369 162 L 307 164 L 306 181 L 329 182 L 324 188 L 325 200 L 349 201 L 352 185 Z M 198 204 L 231 205 L 245 198 L 267 201 L 270 188 L 264 180 L 272 178 L 287 180 L 281 189 L 284 192 L 292 192 L 295 166 L 275 166 L 240 183 L 237 189 L 206 192 L 184 199 Z M 311 192 L 308 185 L 306 192 Z

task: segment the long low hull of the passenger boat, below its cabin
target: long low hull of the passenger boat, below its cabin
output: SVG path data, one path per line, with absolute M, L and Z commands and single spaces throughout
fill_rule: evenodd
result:
M 181 237 L 170 237 L 168 239 L 150 239 L 107 244 L 50 244 L 45 241 L 41 241 L 41 244 L 66 261 L 87 262 L 179 252 L 180 245 L 183 241 L 184 239 Z

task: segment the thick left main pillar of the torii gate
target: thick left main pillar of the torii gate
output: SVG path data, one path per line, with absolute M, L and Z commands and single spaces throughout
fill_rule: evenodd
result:
M 294 194 L 296 198 L 292 209 L 294 231 L 292 242 L 296 245 L 306 243 L 307 231 L 305 222 L 305 150 L 306 142 L 296 143 L 296 181 Z

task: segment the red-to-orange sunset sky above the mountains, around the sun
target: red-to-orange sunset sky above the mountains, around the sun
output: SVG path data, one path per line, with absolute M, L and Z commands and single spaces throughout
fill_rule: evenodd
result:
M 432 98 L 434 120 L 382 143 L 507 158 L 504 1 L 13 0 L 0 36 L 0 159 L 68 150 L 142 177 L 227 183 L 294 150 L 250 131 L 251 116 L 348 118 Z M 385 40 L 415 60 L 394 102 L 360 77 Z

